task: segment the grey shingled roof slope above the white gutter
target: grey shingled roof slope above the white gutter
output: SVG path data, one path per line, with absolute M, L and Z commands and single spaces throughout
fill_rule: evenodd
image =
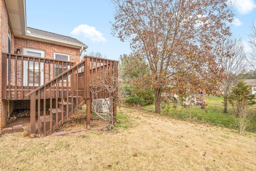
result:
M 36 35 L 39 35 L 39 36 L 44 36 L 44 37 L 48 37 L 48 38 L 63 40 L 63 41 L 66 41 L 66 42 L 72 42 L 72 43 L 75 43 L 75 44 L 81 44 L 83 46 L 86 46 L 84 43 L 80 42 L 76 38 L 71 38 L 71 37 L 68 37 L 68 36 L 62 36 L 60 34 L 46 32 L 46 31 L 43 31 L 43 30 L 35 29 L 35 28 L 27 27 L 27 33 L 36 34 Z

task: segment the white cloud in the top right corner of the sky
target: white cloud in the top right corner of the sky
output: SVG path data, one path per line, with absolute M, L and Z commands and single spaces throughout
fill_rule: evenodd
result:
M 235 4 L 240 14 L 248 14 L 256 8 L 254 0 L 236 0 Z

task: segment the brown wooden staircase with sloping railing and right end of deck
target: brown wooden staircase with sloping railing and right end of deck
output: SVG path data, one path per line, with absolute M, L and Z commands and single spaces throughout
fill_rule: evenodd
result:
M 91 113 L 91 93 L 90 83 L 92 80 L 109 80 L 111 76 L 118 76 L 118 61 L 95 58 L 91 56 L 84 56 L 84 60 L 79 64 L 76 64 L 72 68 L 66 70 L 56 78 L 50 80 L 46 84 L 36 88 L 30 93 L 26 94 L 30 96 L 30 126 L 31 136 L 36 135 L 36 110 L 40 111 L 40 101 L 44 103 L 43 115 L 40 117 L 38 112 L 38 134 L 43 133 L 48 135 L 58 128 L 60 124 L 68 119 L 74 112 L 76 112 L 81 105 L 87 104 L 86 112 L 86 127 L 90 129 L 90 113 Z M 70 82 L 70 86 L 64 85 L 63 80 L 66 78 L 67 82 Z M 108 84 L 108 81 L 106 81 Z M 49 93 L 50 98 L 50 127 L 46 128 L 46 91 Z M 104 92 L 100 93 L 104 94 Z M 81 98 L 84 100 L 81 101 Z M 103 98 L 99 95 L 98 98 Z M 41 100 L 42 99 L 42 100 Z M 55 105 L 52 101 L 55 100 Z M 36 106 L 36 101 L 38 101 Z M 60 102 L 59 102 L 60 101 Z M 68 104 L 70 107 L 66 107 L 64 111 L 64 105 Z M 61 114 L 53 116 L 52 111 L 61 108 Z M 54 109 L 56 108 L 56 109 Z M 116 118 L 116 106 L 114 106 L 114 118 Z M 65 114 L 65 113 L 66 114 Z M 43 118 L 40 120 L 40 118 Z M 42 125 L 42 131 L 40 130 L 40 123 Z

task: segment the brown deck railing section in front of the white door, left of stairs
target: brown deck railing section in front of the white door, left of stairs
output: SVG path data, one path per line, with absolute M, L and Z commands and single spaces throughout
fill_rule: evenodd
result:
M 25 94 L 74 65 L 69 61 L 2 53 L 2 99 L 28 99 Z

